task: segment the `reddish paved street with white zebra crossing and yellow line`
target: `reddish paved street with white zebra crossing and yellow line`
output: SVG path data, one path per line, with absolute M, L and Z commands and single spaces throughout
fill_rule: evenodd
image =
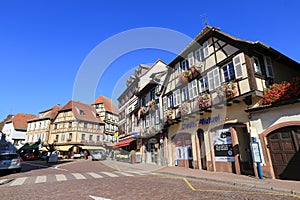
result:
M 297 198 L 145 170 L 110 168 L 102 161 L 86 160 L 55 165 L 26 161 L 21 173 L 2 174 L 0 183 L 1 199 L 7 200 Z

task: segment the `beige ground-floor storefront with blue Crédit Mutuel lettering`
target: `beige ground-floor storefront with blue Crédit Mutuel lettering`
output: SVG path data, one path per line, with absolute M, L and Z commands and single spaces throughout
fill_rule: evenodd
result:
M 243 102 L 187 116 L 168 132 L 171 166 L 254 175 Z

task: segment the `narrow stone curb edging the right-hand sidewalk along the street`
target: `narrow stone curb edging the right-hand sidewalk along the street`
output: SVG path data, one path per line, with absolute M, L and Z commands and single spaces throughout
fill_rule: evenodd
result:
M 174 174 L 174 173 L 170 173 L 170 172 L 156 172 L 156 173 L 173 175 L 173 176 L 178 176 L 178 177 L 182 177 L 182 178 L 197 179 L 197 180 L 213 182 L 213 183 L 229 184 L 229 185 L 233 185 L 233 186 L 244 186 L 244 187 L 246 186 L 246 187 L 251 187 L 251 188 L 255 188 L 255 189 L 267 190 L 267 191 L 284 193 L 284 194 L 300 195 L 300 191 L 294 191 L 294 190 L 288 190 L 288 189 L 274 188 L 274 187 L 268 187 L 268 186 L 264 187 L 264 186 L 254 185 L 254 184 L 216 180 L 216 179 L 211 179 L 211 178 L 203 178 L 203 177 L 196 177 L 196 176 L 189 176 L 189 175 L 180 175 L 180 174 Z

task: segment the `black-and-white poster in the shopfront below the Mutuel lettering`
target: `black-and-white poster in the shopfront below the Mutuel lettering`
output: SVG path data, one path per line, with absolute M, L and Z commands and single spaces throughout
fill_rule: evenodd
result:
M 216 162 L 234 162 L 230 129 L 213 132 L 213 144 Z

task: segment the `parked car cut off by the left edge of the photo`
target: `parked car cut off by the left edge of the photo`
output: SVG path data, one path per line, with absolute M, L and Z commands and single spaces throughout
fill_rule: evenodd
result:
M 16 153 L 1 153 L 0 154 L 0 171 L 16 171 L 22 169 L 22 158 Z

